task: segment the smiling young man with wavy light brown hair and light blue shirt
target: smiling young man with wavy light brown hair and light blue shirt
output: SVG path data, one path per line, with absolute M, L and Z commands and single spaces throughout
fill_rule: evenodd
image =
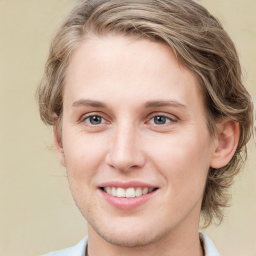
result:
M 193 0 L 87 0 L 55 35 L 38 88 L 88 237 L 49 255 L 218 255 L 252 133 L 235 47 Z

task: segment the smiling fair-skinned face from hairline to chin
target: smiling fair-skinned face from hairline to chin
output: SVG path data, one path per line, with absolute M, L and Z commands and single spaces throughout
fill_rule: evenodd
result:
M 159 42 L 109 35 L 75 51 L 56 144 L 89 232 L 125 246 L 197 232 L 215 148 L 198 87 Z

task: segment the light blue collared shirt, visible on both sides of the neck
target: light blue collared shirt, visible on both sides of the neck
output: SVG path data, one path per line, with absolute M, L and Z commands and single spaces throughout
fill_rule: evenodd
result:
M 205 256 L 220 256 L 213 242 L 204 233 L 199 233 Z M 41 256 L 85 256 L 88 237 L 82 238 L 77 244 L 61 250 L 52 251 Z

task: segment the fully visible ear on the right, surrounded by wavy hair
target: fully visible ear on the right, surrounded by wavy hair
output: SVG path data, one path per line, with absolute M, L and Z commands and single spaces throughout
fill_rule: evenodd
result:
M 212 168 L 223 167 L 231 160 L 239 140 L 239 123 L 224 119 L 217 124 L 217 131 L 218 142 L 210 162 Z

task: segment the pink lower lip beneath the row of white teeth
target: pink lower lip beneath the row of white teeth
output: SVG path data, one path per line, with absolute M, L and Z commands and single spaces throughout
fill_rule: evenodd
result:
M 154 191 L 152 191 L 148 194 L 143 194 L 143 195 L 140 195 L 140 196 L 127 198 L 127 197 L 113 196 L 113 195 L 108 194 L 108 193 L 104 192 L 103 190 L 99 189 L 99 191 L 101 192 L 104 199 L 107 202 L 109 202 L 111 205 L 113 205 L 114 207 L 119 208 L 119 209 L 133 209 L 133 208 L 136 208 L 139 205 L 146 202 L 148 199 L 150 199 L 155 194 L 155 192 L 157 190 L 158 189 L 156 189 L 156 190 L 154 190 Z

